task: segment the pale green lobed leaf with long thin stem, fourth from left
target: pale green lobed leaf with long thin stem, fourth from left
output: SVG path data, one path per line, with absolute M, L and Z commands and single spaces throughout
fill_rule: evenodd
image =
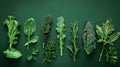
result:
M 64 39 L 66 35 L 64 34 L 65 31 L 65 24 L 64 24 L 64 18 L 62 16 L 58 17 L 57 19 L 57 27 L 56 30 L 58 32 L 57 38 L 59 39 L 60 43 L 60 55 L 63 55 L 63 44 L 64 44 Z

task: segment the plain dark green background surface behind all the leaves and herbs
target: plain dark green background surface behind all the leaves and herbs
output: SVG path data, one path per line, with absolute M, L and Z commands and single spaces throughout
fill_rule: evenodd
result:
M 23 56 L 19 60 L 6 59 L 2 52 L 8 48 L 7 28 L 3 25 L 8 15 L 15 16 L 20 22 L 19 43 L 18 48 Z M 39 42 L 30 46 L 30 50 L 26 50 L 24 46 L 26 36 L 23 33 L 23 25 L 26 19 L 33 17 L 37 23 L 35 35 L 40 36 L 40 26 L 46 15 L 51 15 L 54 19 L 51 36 L 49 40 L 56 41 L 58 57 L 51 64 L 41 64 L 43 59 L 43 49 L 41 46 L 41 37 Z M 66 25 L 66 34 L 70 29 L 70 23 L 74 20 L 79 24 L 79 52 L 77 62 L 73 62 L 66 45 L 69 45 L 68 35 L 65 39 L 64 53 L 61 57 L 59 54 L 58 41 L 56 38 L 56 20 L 59 16 L 63 16 Z M 83 50 L 82 33 L 87 20 L 92 24 L 101 25 L 106 18 L 111 18 L 116 30 L 120 31 L 120 1 L 119 0 L 0 0 L 0 67 L 112 67 L 105 62 L 105 57 L 101 63 L 98 63 L 101 45 L 97 44 L 97 49 L 93 54 L 87 56 Z M 115 42 L 120 58 L 120 39 Z M 32 48 L 40 47 L 40 53 L 37 61 L 27 62 L 26 55 L 30 53 Z M 120 67 L 120 59 L 115 67 Z

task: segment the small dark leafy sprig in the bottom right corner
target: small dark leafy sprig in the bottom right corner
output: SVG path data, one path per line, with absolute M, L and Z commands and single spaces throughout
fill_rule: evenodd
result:
M 117 57 L 117 50 L 115 47 L 113 46 L 109 47 L 109 50 L 106 53 L 106 60 L 111 64 L 115 64 L 117 62 L 118 57 Z

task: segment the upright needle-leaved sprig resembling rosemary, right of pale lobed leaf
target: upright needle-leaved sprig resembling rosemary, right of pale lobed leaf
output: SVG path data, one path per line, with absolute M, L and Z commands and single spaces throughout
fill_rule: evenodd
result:
M 71 30 L 70 30 L 70 38 L 71 41 L 70 46 L 67 46 L 69 51 L 71 52 L 71 55 L 73 57 L 73 61 L 76 61 L 76 56 L 80 50 L 80 46 L 78 46 L 78 24 L 76 22 L 71 24 Z

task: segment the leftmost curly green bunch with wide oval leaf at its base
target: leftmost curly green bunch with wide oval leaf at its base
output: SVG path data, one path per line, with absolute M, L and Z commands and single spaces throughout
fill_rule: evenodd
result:
M 19 50 L 13 48 L 13 46 L 16 46 L 18 41 L 17 35 L 20 34 L 18 30 L 19 23 L 16 21 L 15 17 L 8 16 L 4 24 L 8 27 L 9 48 L 3 51 L 3 53 L 7 58 L 18 59 L 22 56 L 22 54 Z

